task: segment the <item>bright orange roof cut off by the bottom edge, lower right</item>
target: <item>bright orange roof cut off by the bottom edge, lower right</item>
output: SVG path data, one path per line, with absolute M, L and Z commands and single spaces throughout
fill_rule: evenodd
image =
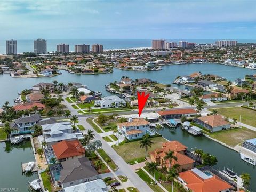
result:
M 187 183 L 186 186 L 193 192 L 219 192 L 232 187 L 216 175 L 203 179 L 192 170 L 179 173 L 179 177 Z

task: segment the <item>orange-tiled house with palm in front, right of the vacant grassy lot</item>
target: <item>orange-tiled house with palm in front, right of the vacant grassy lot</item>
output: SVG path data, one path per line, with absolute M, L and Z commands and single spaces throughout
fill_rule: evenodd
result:
M 166 154 L 169 151 L 174 151 L 174 156 L 177 157 L 177 161 L 171 159 L 165 159 Z M 151 161 L 157 163 L 159 166 L 170 169 L 174 164 L 179 164 L 178 172 L 183 170 L 190 170 L 194 167 L 195 161 L 186 155 L 187 147 L 179 141 L 169 141 L 162 144 L 162 148 L 155 149 L 150 152 Z

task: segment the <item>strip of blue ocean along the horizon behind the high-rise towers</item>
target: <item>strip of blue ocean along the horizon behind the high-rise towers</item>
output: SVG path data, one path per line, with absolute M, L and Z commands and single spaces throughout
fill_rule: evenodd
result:
M 46 39 L 47 51 L 56 51 L 56 45 L 60 43 L 69 44 L 69 50 L 74 51 L 74 45 L 79 44 L 102 44 L 103 49 L 125 49 L 135 47 L 151 47 L 152 39 Z M 167 39 L 167 42 L 188 41 L 193 43 L 214 43 L 218 39 Z M 256 43 L 256 39 L 237 39 L 238 43 Z M 91 48 L 91 47 L 90 47 Z M 17 42 L 17 52 L 33 52 L 34 40 L 19 40 Z M 5 40 L 0 40 L 0 54 L 5 54 Z

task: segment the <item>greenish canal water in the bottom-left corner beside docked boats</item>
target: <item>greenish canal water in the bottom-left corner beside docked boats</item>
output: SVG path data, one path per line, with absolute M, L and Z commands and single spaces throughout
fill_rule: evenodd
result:
M 28 181 L 38 178 L 37 173 L 22 175 L 21 162 L 35 161 L 31 142 L 10 145 L 10 142 L 0 143 L 0 189 L 13 191 L 28 191 Z M 7 190 L 6 190 L 7 191 Z

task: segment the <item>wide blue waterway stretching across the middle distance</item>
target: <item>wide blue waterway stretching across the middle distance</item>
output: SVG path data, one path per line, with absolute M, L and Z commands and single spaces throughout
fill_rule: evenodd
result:
M 114 69 L 110 74 L 84 75 L 70 74 L 62 71 L 62 75 L 55 77 L 41 78 L 12 78 L 9 74 L 0 75 L 0 106 L 5 101 L 13 103 L 13 99 L 17 97 L 17 93 L 24 89 L 31 89 L 31 86 L 39 82 L 52 82 L 57 80 L 67 84 L 68 82 L 79 82 L 87 85 L 89 89 L 101 91 L 103 95 L 109 95 L 105 90 L 105 85 L 110 82 L 119 81 L 122 76 L 129 76 L 132 79 L 149 78 L 159 83 L 171 84 L 177 76 L 190 75 L 195 71 L 201 71 L 203 74 L 215 74 L 234 81 L 236 78 L 244 78 L 246 74 L 255 74 L 254 70 L 240 67 L 225 66 L 216 63 L 197 63 L 182 65 L 163 66 L 160 71 L 125 71 Z M 179 86 L 179 85 L 173 85 Z

